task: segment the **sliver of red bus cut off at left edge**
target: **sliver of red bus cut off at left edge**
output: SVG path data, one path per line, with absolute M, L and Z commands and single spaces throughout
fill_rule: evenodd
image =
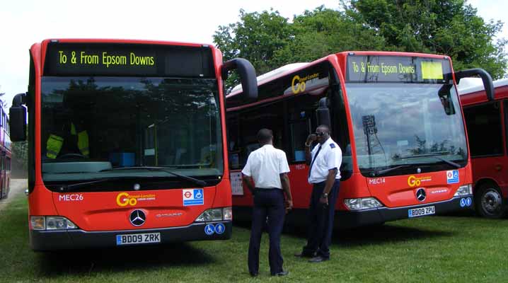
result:
M 8 196 L 11 187 L 12 158 L 8 116 L 4 108 L 0 108 L 0 119 L 0 199 L 3 199 Z

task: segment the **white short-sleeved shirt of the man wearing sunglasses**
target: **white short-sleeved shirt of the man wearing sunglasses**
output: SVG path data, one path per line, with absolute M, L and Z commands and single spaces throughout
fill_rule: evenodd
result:
M 316 156 L 316 152 L 318 152 L 319 146 L 321 146 L 321 151 L 319 151 L 316 160 L 312 164 L 314 160 L 314 156 Z M 323 144 L 317 144 L 314 146 L 311 152 L 311 175 L 308 177 L 308 183 L 316 184 L 321 183 L 326 180 L 328 177 L 328 171 L 333 168 L 337 168 L 337 176 L 335 179 L 340 179 L 340 164 L 342 163 L 342 150 L 333 139 L 328 138 Z

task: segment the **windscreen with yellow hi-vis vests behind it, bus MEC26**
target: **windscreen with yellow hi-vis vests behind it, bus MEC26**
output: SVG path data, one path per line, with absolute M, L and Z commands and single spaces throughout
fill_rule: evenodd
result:
M 41 91 L 45 182 L 223 173 L 217 80 L 46 76 Z

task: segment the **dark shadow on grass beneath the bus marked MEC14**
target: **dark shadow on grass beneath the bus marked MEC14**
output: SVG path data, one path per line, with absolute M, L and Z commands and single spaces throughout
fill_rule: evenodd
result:
M 250 229 L 249 221 L 236 221 L 235 226 Z M 307 237 L 304 226 L 284 226 L 284 235 L 303 238 Z M 393 224 L 364 226 L 357 229 L 335 229 L 332 243 L 339 246 L 382 245 L 397 241 L 412 241 L 428 238 L 454 236 L 454 232 L 438 229 L 417 229 Z

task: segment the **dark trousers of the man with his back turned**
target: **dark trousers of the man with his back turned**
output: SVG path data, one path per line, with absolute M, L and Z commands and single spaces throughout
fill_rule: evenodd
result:
M 268 218 L 267 229 L 270 236 L 270 272 L 282 272 L 282 254 L 280 252 L 280 234 L 284 226 L 284 193 L 279 189 L 256 189 L 250 230 L 248 267 L 249 272 L 258 273 L 261 234 Z

